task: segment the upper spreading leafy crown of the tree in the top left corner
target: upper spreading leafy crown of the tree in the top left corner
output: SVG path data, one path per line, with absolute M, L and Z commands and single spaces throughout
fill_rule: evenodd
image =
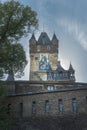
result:
M 0 44 L 15 42 L 38 26 L 37 14 L 29 6 L 11 0 L 0 3 Z

